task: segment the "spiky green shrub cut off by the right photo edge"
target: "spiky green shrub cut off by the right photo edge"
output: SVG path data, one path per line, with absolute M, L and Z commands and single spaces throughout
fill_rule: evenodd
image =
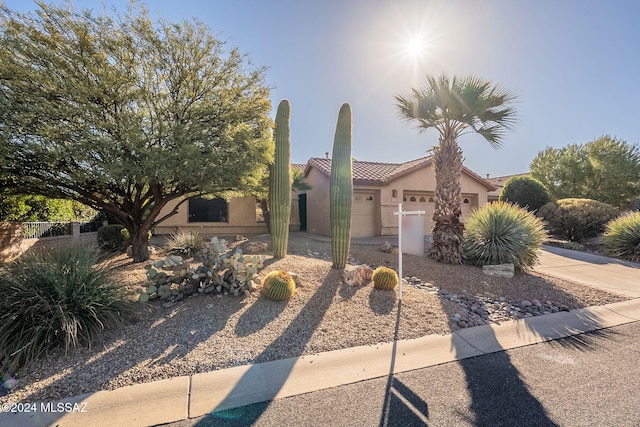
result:
M 628 212 L 609 221 L 602 244 L 608 255 L 640 262 L 640 212 Z

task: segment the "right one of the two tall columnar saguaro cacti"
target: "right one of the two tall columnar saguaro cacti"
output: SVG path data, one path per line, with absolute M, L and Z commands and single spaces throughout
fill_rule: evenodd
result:
M 330 179 L 331 251 L 333 268 L 343 269 L 351 244 L 351 200 L 353 170 L 351 166 L 351 106 L 340 107 L 333 140 Z

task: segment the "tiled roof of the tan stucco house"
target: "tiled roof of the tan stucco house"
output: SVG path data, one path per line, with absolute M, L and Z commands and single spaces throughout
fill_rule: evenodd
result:
M 386 185 L 393 180 L 410 174 L 418 169 L 429 166 L 433 162 L 432 157 L 422 157 L 404 163 L 380 163 L 353 161 L 353 183 L 359 185 Z M 331 159 L 314 157 L 307 162 L 304 174 L 315 167 L 322 174 L 331 176 Z M 496 187 L 471 169 L 463 166 L 463 173 L 483 184 L 489 191 Z

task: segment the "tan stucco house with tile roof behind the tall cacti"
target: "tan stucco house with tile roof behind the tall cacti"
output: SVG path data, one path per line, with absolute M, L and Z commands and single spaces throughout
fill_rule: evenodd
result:
M 331 159 L 312 158 L 305 165 L 294 164 L 304 173 L 310 190 L 292 192 L 291 231 L 307 231 L 329 236 L 329 179 Z M 496 187 L 468 168 L 462 172 L 462 215 L 464 219 L 476 207 L 488 201 Z M 431 157 L 405 163 L 378 163 L 354 160 L 352 237 L 385 236 L 398 233 L 398 219 L 393 214 L 398 203 L 404 210 L 424 210 L 425 233 L 433 228 L 435 172 Z M 178 202 L 165 207 L 170 212 Z M 254 197 L 224 199 L 190 199 L 178 213 L 154 229 L 155 234 L 197 231 L 204 235 L 262 234 L 267 227 Z

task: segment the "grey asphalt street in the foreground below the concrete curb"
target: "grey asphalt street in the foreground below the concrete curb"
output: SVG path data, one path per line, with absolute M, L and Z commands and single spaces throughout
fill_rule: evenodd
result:
M 170 427 L 640 426 L 640 322 Z

